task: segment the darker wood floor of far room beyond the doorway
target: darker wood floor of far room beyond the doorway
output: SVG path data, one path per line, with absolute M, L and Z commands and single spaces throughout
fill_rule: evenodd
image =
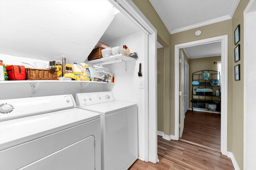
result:
M 220 151 L 220 115 L 188 110 L 181 139 Z

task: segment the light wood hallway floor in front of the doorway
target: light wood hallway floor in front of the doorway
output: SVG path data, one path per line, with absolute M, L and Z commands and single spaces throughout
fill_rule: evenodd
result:
M 136 160 L 129 170 L 234 170 L 230 158 L 220 152 L 158 136 L 157 164 Z

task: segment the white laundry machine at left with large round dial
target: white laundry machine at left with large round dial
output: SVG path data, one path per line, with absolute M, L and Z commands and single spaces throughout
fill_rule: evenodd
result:
M 0 100 L 0 169 L 98 169 L 100 115 L 72 95 Z

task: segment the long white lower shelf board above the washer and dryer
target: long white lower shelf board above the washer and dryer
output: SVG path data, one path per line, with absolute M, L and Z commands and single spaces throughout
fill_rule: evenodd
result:
M 114 84 L 111 82 L 96 82 L 96 81 L 78 81 L 78 80 L 17 80 L 17 81 L 0 81 L 0 84 L 6 84 L 6 83 L 30 83 L 30 82 L 55 82 L 55 83 L 68 83 L 68 82 L 74 82 L 74 83 L 93 83 L 93 84 Z

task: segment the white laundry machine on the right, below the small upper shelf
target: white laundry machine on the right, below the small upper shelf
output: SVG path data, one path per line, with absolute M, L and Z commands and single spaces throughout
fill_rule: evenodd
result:
M 137 104 L 111 92 L 76 94 L 78 108 L 100 113 L 102 170 L 126 170 L 138 159 Z

